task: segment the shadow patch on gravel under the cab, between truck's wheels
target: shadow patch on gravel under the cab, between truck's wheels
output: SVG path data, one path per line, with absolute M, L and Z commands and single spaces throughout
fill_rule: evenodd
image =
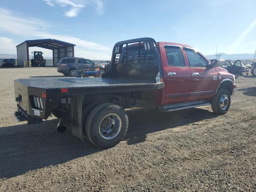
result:
M 211 119 L 218 115 L 202 108 L 191 108 L 174 112 L 156 111 L 134 111 L 128 112 L 129 128 L 125 136 L 127 144 L 144 142 L 146 135 L 168 128 L 176 128 L 198 122 L 204 119 Z

